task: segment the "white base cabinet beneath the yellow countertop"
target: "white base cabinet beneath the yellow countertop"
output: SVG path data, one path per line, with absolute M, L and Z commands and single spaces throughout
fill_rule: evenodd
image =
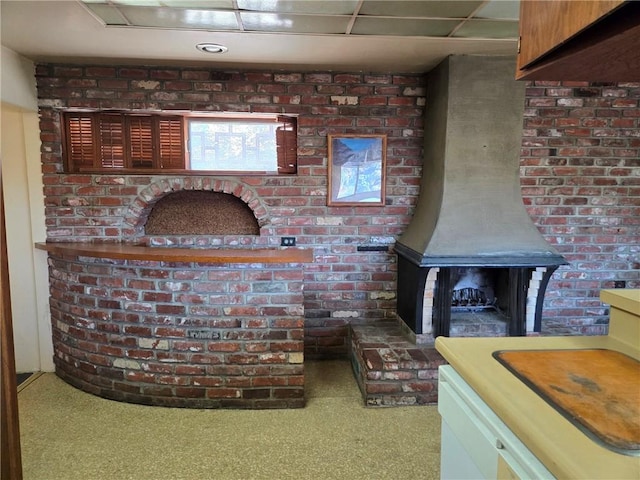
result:
M 438 389 L 442 479 L 554 478 L 450 365 Z

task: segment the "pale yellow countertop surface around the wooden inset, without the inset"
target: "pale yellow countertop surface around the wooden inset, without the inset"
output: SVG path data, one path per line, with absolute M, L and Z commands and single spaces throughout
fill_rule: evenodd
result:
M 556 478 L 640 478 L 640 458 L 596 443 L 493 358 L 497 350 L 607 348 L 638 359 L 608 336 L 436 339 L 436 349 Z

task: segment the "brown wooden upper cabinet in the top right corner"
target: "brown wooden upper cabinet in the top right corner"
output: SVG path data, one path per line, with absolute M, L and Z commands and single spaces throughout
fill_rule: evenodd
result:
M 518 80 L 640 80 L 640 2 L 523 0 Z

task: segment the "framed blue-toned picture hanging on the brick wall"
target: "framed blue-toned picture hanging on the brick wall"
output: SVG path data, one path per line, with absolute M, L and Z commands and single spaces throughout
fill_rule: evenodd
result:
M 327 205 L 384 205 L 386 135 L 329 135 Z

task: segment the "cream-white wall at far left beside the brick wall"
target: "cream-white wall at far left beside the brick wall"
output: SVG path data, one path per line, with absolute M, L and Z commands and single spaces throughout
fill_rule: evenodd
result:
M 16 370 L 52 371 L 44 195 L 34 65 L 2 47 L 0 162 Z

